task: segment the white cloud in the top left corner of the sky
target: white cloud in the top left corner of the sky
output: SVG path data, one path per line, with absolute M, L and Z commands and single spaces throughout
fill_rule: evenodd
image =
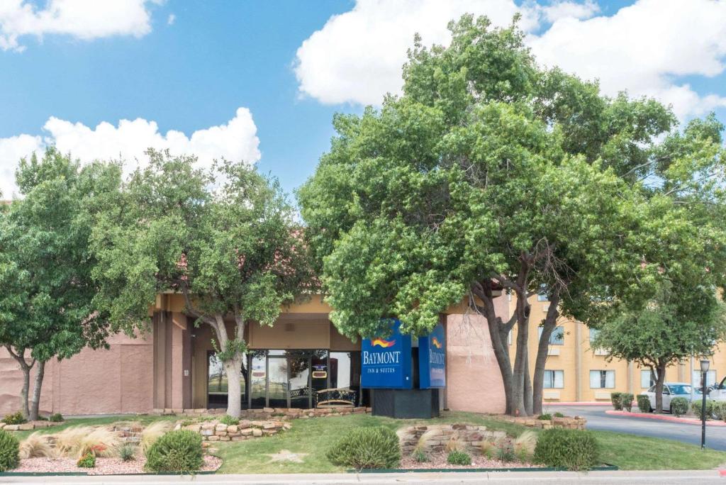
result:
M 0 49 L 22 51 L 23 36 L 61 34 L 83 40 L 142 37 L 151 31 L 150 4 L 163 0 L 49 0 L 38 9 L 26 0 L 0 1 Z

